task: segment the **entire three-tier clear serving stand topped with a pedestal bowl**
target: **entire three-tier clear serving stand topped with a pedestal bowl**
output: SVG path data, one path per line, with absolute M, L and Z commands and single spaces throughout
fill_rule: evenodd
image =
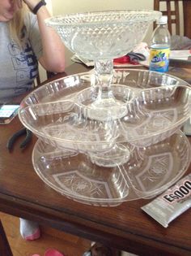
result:
M 94 206 L 154 197 L 184 175 L 189 85 L 168 74 L 112 68 L 142 41 L 156 11 L 104 11 L 47 20 L 95 70 L 41 86 L 19 119 L 39 140 L 36 173 L 57 192 Z

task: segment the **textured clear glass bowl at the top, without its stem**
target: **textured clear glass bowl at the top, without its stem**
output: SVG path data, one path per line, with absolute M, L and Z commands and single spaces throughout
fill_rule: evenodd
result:
M 65 45 L 85 59 L 113 59 L 142 41 L 161 12 L 115 10 L 53 16 L 45 23 L 56 29 Z

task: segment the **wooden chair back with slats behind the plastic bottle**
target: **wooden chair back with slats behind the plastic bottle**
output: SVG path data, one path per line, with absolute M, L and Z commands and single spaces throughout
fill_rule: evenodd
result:
M 182 16 L 183 35 L 191 38 L 191 0 L 154 0 L 154 10 L 168 16 L 168 30 L 171 34 L 180 35 Z

